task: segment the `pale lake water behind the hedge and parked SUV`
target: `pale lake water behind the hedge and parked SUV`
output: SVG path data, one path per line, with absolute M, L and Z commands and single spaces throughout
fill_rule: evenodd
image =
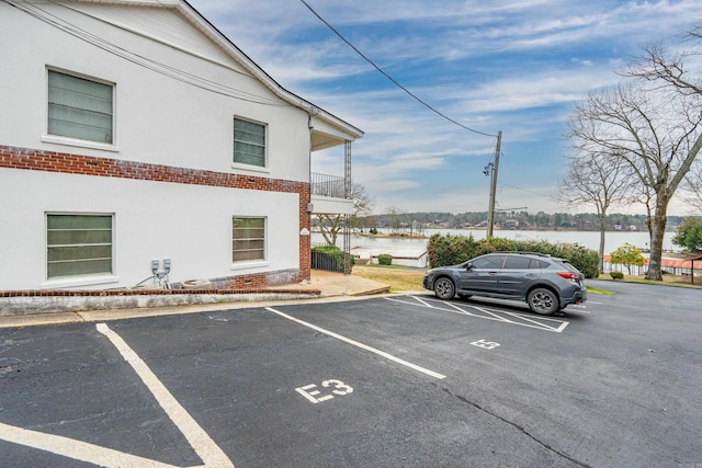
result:
M 426 236 L 434 233 L 465 236 L 485 239 L 485 229 L 427 229 Z M 536 231 L 536 230 L 495 230 L 495 237 L 514 240 L 545 240 L 552 243 L 577 243 L 588 249 L 598 250 L 600 233 L 597 231 Z M 666 232 L 664 237 L 664 251 L 679 251 L 680 248 L 672 243 L 675 232 Z M 321 235 L 313 235 L 313 244 L 325 244 Z M 343 248 L 343 240 L 339 238 L 337 244 Z M 371 238 L 363 236 L 351 237 L 351 249 L 361 258 L 389 253 L 393 255 L 418 256 L 427 250 L 428 239 L 403 238 Z M 609 254 L 624 243 L 631 243 L 639 249 L 648 249 L 649 237 L 647 231 L 607 231 L 604 235 L 604 254 Z

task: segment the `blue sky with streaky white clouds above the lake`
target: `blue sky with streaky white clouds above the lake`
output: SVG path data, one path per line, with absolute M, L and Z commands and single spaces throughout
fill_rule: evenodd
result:
M 574 105 L 655 41 L 672 44 L 702 19 L 699 0 L 306 0 L 386 73 L 462 125 L 502 132 L 496 202 L 531 213 L 554 201 L 567 167 Z M 363 129 L 353 182 L 374 212 L 482 212 L 496 138 L 448 122 L 412 100 L 298 0 L 191 0 L 281 85 Z M 313 157 L 343 174 L 343 149 Z M 593 213 L 593 207 L 581 212 Z M 644 213 L 627 206 L 619 213 Z M 670 215 L 686 215 L 675 202 Z

